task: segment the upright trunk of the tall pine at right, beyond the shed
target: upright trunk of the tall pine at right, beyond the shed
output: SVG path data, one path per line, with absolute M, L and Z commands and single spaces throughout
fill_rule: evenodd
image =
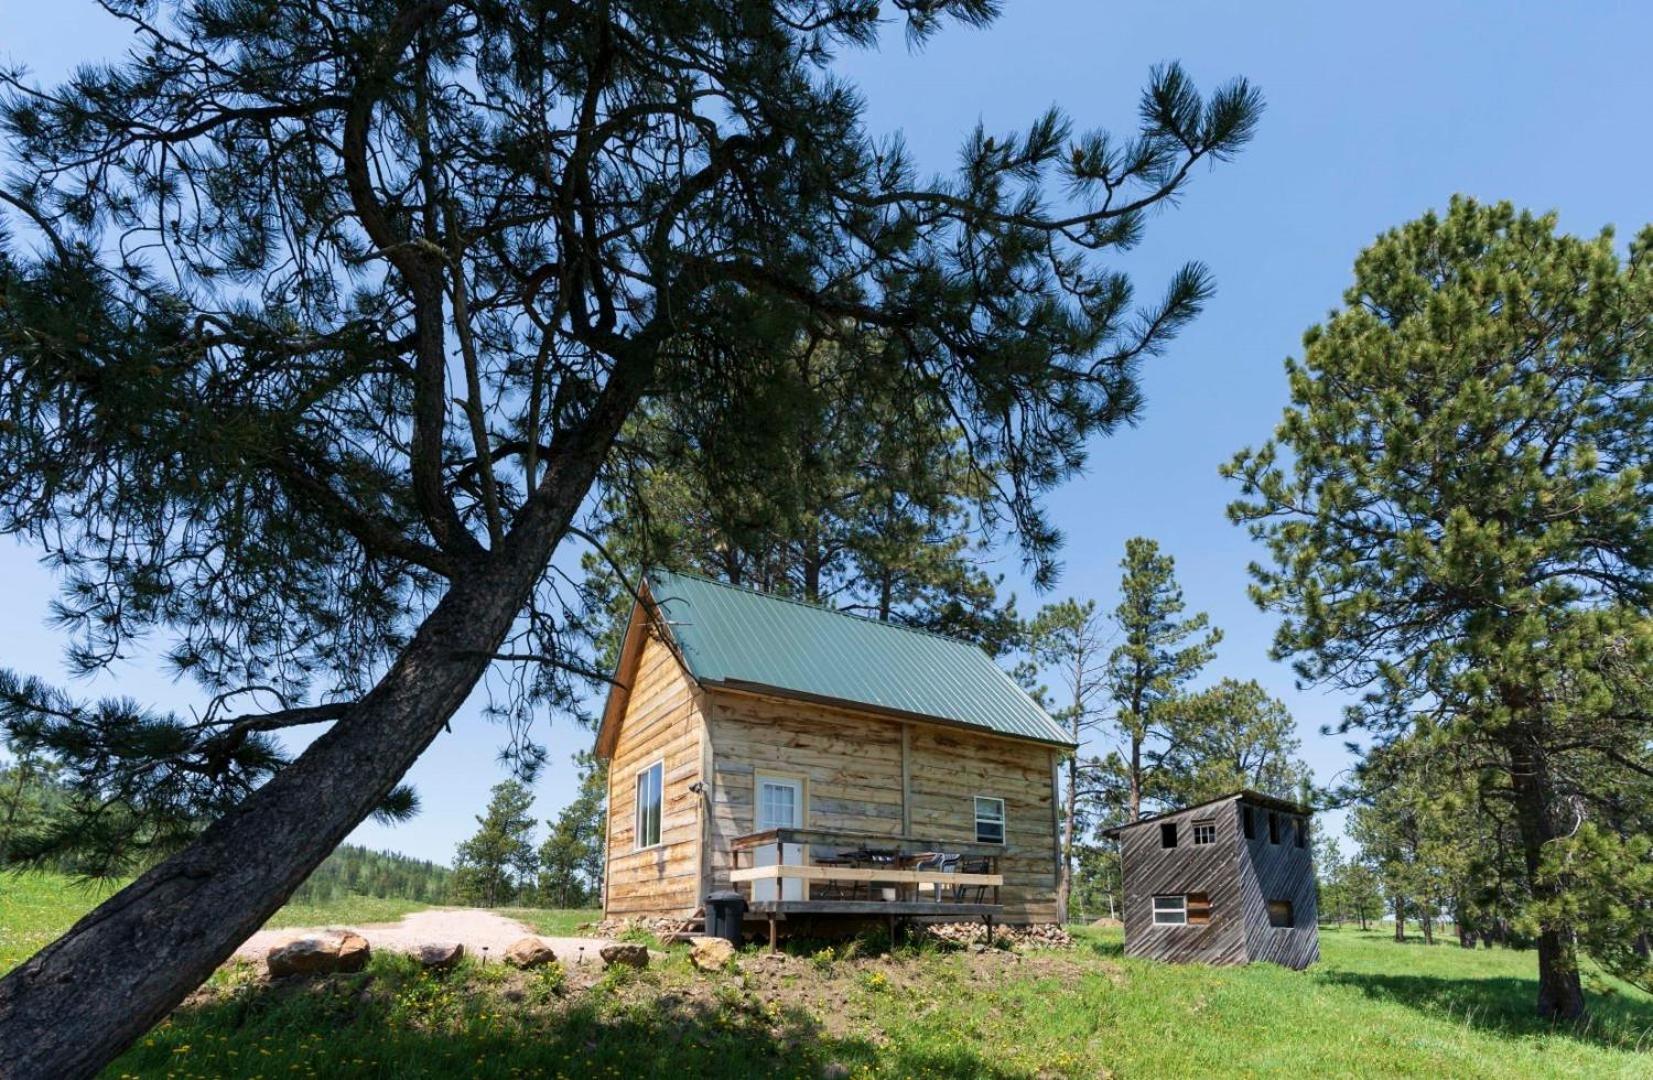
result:
M 1544 845 L 1554 837 L 1551 820 L 1551 777 L 1539 743 L 1522 726 L 1508 733 L 1511 784 L 1516 796 L 1516 825 L 1521 830 L 1521 853 L 1527 870 L 1532 900 L 1557 898 L 1559 886 L 1539 875 Z M 1554 921 L 1539 923 L 1539 997 L 1537 1014 L 1544 1019 L 1574 1020 L 1582 1017 L 1584 984 L 1572 929 Z

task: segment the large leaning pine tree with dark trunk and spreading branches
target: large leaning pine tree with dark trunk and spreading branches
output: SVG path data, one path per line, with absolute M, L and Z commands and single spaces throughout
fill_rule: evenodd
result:
M 213 705 L 5 681 L 8 731 L 119 810 L 60 839 L 172 852 L 0 981 L 8 1077 L 162 1019 L 491 670 L 516 721 L 570 696 L 550 559 L 648 402 L 760 427 L 744 370 L 876 336 L 1048 569 L 1040 495 L 1208 289 L 1139 306 L 1098 256 L 1260 112 L 1167 66 L 1131 137 L 1051 111 L 924 179 L 831 58 L 993 0 L 109 7 L 119 63 L 0 74 L 0 531 L 61 572 L 76 665 L 160 633 Z

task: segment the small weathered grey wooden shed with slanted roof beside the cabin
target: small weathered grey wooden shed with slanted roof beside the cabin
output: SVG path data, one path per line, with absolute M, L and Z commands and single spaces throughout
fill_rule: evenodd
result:
M 1121 845 L 1126 956 L 1299 971 L 1321 958 L 1309 807 L 1240 791 L 1106 835 Z

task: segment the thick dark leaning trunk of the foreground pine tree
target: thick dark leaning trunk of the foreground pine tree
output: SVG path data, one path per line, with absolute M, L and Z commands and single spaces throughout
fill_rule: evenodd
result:
M 617 364 L 511 534 L 466 562 L 344 719 L 187 848 L 0 979 L 7 1080 L 96 1073 L 228 959 L 380 805 L 488 670 L 651 369 L 653 357 L 641 354 Z

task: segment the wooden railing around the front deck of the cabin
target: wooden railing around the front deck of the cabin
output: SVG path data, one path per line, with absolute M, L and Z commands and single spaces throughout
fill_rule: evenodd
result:
M 774 848 L 774 862 L 760 867 L 759 852 L 767 848 Z M 736 837 L 731 850 L 731 883 L 750 890 L 754 882 L 775 882 L 777 898 L 785 890 L 782 882 L 790 880 L 803 882 L 805 901 L 997 905 L 1005 883 L 998 872 L 1005 850 L 1000 843 L 769 829 Z

